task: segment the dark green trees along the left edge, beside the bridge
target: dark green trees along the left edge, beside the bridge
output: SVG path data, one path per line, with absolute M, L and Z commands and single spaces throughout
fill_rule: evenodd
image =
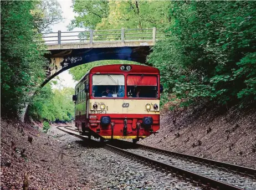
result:
M 16 116 L 45 78 L 44 45 L 30 11 L 34 1 L 1 1 L 1 111 Z

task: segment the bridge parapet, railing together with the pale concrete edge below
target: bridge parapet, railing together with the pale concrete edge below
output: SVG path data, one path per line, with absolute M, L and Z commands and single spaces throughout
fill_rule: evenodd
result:
M 114 29 L 85 30 L 75 32 L 42 33 L 48 50 L 80 49 L 103 47 L 138 47 L 152 46 L 156 40 L 163 38 L 162 29 Z

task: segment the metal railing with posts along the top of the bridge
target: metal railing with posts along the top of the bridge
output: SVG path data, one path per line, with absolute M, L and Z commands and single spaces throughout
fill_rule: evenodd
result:
M 76 32 L 41 33 L 42 43 L 70 44 L 70 43 L 97 43 L 106 41 L 128 42 L 132 40 L 156 40 L 164 37 L 162 29 L 156 27 L 148 29 L 115 29 L 115 30 L 85 30 Z

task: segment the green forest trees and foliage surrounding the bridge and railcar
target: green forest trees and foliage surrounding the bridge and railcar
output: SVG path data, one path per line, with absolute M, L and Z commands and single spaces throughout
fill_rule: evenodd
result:
M 70 121 L 74 89 L 51 84 L 31 94 L 45 79 L 47 53 L 33 40 L 58 22 L 60 7 L 43 2 L 1 1 L 1 115 L 17 116 L 30 104 L 34 120 Z M 49 12 L 49 8 L 52 11 Z M 160 69 L 165 91 L 161 104 L 178 107 L 202 102 L 246 106 L 256 99 L 256 3 L 253 1 L 73 1 L 78 14 L 69 24 L 88 29 L 161 28 L 165 37 L 152 48 L 147 64 Z M 49 14 L 55 17 L 49 17 Z M 54 23 L 54 20 L 52 20 Z M 97 61 L 71 68 L 75 80 Z M 58 79 L 52 81 L 58 83 Z M 173 109 L 173 107 L 169 107 Z

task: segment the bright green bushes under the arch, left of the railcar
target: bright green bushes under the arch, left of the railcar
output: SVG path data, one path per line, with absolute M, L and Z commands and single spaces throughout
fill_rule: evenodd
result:
M 35 120 L 71 121 L 74 119 L 73 94 L 73 88 L 52 90 L 47 84 L 34 95 L 29 116 Z

